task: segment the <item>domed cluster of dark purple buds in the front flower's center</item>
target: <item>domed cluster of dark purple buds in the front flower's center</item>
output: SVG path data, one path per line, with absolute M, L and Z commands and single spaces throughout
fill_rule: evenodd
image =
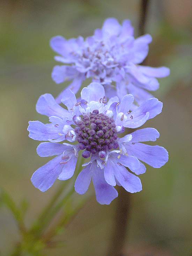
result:
M 82 121 L 75 127 L 79 148 L 84 150 L 82 156 L 90 157 L 91 153 L 98 152 L 103 158 L 107 150 L 118 148 L 116 125 L 113 118 L 99 114 L 94 110 L 89 116 L 83 116 Z

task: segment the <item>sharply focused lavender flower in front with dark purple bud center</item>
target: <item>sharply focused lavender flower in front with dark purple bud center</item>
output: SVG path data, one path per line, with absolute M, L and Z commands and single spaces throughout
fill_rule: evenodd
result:
M 159 137 L 154 128 L 118 137 L 125 127 L 140 127 L 161 113 L 162 103 L 156 98 L 147 99 L 130 112 L 133 101 L 133 95 L 128 94 L 120 102 L 117 96 L 107 102 L 104 87 L 96 82 L 83 88 L 78 100 L 70 89 L 64 90 L 61 102 L 67 110 L 58 105 L 50 94 L 40 96 L 37 112 L 48 116 L 50 123 L 30 121 L 29 137 L 48 140 L 37 147 L 39 156 L 56 157 L 37 169 L 32 175 L 32 184 L 44 192 L 57 178 L 71 178 L 81 152 L 82 157 L 90 159 L 75 181 L 77 193 L 87 191 L 91 178 L 96 199 L 101 204 L 108 205 L 118 196 L 114 188 L 116 184 L 130 193 L 141 191 L 141 181 L 133 173 L 138 175 L 146 171 L 142 162 L 155 168 L 163 166 L 168 161 L 168 152 L 163 147 L 141 143 L 155 141 Z M 58 143 L 66 140 L 73 144 Z

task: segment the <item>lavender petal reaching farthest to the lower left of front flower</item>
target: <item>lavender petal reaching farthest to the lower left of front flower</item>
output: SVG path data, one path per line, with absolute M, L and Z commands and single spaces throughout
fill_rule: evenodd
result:
M 47 164 L 38 168 L 31 177 L 32 184 L 42 192 L 49 189 L 62 171 L 63 166 L 59 164 L 61 160 L 61 155 L 57 155 Z

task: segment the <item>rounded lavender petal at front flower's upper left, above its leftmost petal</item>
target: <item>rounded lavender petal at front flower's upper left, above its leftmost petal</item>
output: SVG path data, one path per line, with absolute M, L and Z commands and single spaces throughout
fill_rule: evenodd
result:
M 51 94 L 41 95 L 36 104 L 36 110 L 39 114 L 50 116 L 57 116 L 61 119 L 63 117 L 71 116 L 70 113 L 59 106 Z

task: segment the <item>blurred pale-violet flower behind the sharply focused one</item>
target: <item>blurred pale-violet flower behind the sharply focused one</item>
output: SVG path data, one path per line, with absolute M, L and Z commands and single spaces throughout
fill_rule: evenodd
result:
M 157 90 L 156 77 L 168 76 L 169 69 L 138 65 L 146 58 L 152 37 L 146 34 L 134 39 L 133 30 L 130 20 L 124 20 L 121 26 L 115 18 L 108 18 L 102 29 L 96 29 L 85 41 L 81 36 L 69 40 L 62 36 L 53 37 L 50 46 L 60 55 L 55 59 L 70 64 L 55 66 L 53 80 L 56 83 L 73 80 L 67 88 L 76 94 L 82 81 L 92 77 L 93 82 L 104 86 L 108 98 L 117 95 L 121 100 L 131 93 L 136 105 L 152 98 L 147 90 Z M 113 81 L 116 87 L 112 85 Z M 61 97 L 57 98 L 58 103 Z

